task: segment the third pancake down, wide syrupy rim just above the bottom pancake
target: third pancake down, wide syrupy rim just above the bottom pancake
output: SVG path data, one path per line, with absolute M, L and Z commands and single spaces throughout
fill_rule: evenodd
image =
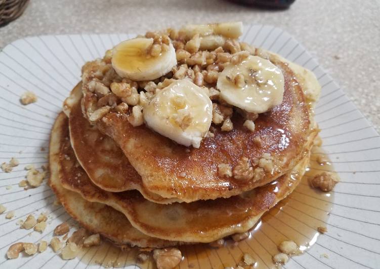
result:
M 122 212 L 132 225 L 144 234 L 165 240 L 212 242 L 252 228 L 263 213 L 285 198 L 299 184 L 308 164 L 305 157 L 290 172 L 275 182 L 228 199 L 200 200 L 192 203 L 162 205 L 150 202 L 138 191 L 106 192 L 96 187 L 76 161 L 62 124 L 59 163 L 62 186 L 91 202 L 104 203 Z

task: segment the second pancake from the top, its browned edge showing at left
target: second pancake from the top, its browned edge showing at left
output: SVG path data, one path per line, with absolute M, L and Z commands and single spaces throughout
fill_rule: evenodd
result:
M 117 144 L 101 133 L 96 126 L 83 117 L 80 99 L 80 84 L 75 86 L 65 101 L 66 115 L 69 116 L 70 140 L 77 160 L 91 181 L 109 192 L 138 190 L 145 199 L 155 203 L 173 203 L 179 199 L 165 199 L 145 190 L 141 176 L 130 164 Z

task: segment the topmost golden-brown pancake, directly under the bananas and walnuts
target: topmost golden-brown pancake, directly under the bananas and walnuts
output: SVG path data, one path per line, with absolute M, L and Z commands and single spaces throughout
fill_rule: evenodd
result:
M 133 127 L 125 114 L 110 112 L 97 126 L 119 145 L 141 175 L 144 188 L 164 198 L 185 202 L 228 198 L 263 186 L 304 157 L 305 144 L 314 127 L 303 89 L 294 73 L 276 56 L 272 55 L 271 61 L 284 74 L 284 98 L 281 105 L 259 115 L 254 132 L 248 131 L 242 117 L 235 113 L 233 130 L 223 132 L 217 128 L 215 137 L 205 138 L 196 149 L 178 145 L 145 125 Z M 91 99 L 91 93 L 85 91 L 85 110 Z M 255 143 L 255 137 L 261 138 L 261 146 Z M 256 182 L 218 175 L 218 164 L 235 167 L 243 156 L 255 163 L 264 153 L 271 155 L 275 169 Z

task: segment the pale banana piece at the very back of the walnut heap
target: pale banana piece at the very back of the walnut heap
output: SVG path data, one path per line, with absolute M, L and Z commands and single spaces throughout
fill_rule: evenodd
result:
M 191 39 L 194 34 L 197 33 L 200 36 L 216 34 L 227 38 L 238 38 L 243 33 L 243 23 L 224 22 L 213 24 L 189 24 L 182 27 L 180 32 L 184 33 L 188 39 Z

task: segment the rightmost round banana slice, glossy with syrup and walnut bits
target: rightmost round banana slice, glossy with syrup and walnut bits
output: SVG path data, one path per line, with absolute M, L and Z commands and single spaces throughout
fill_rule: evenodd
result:
M 227 65 L 219 74 L 220 97 L 251 113 L 263 113 L 282 103 L 284 76 L 270 61 L 249 56 L 240 64 Z

